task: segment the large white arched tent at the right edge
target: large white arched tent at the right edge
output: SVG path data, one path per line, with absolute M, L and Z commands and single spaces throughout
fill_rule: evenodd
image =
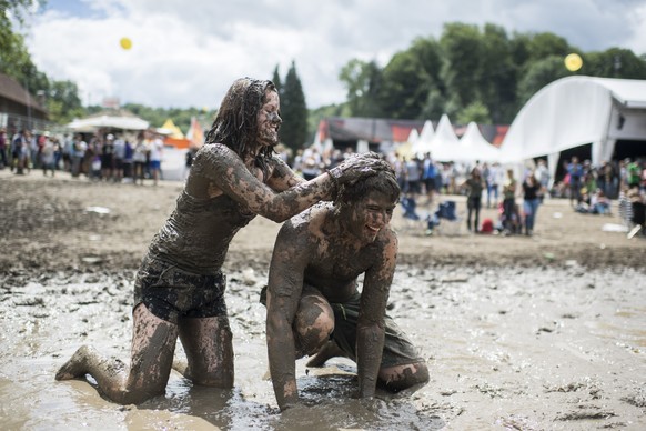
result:
M 646 141 L 646 80 L 567 77 L 521 109 L 501 146 L 503 162 L 548 157 L 592 143 L 592 162 L 610 160 L 618 139 Z

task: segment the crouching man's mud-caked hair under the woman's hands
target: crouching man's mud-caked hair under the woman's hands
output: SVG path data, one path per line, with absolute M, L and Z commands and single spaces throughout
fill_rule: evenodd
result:
M 363 199 L 371 191 L 382 192 L 397 203 L 402 193 L 397 177 L 387 161 L 382 159 L 382 169 L 375 170 L 374 174 L 357 180 L 353 184 L 342 186 L 336 196 L 335 206 L 340 208 L 352 204 Z

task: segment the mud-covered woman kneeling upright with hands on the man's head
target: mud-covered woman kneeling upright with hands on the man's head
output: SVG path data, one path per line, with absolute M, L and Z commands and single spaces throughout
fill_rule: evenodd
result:
M 333 199 L 343 184 L 382 169 L 375 154 L 356 156 L 305 181 L 274 156 L 281 122 L 271 81 L 233 82 L 174 211 L 153 238 L 137 274 L 130 368 L 81 347 L 57 380 L 90 374 L 110 400 L 143 402 L 164 393 L 179 337 L 188 363 L 178 371 L 194 384 L 233 387 L 221 268 L 234 234 L 258 214 L 285 221 Z

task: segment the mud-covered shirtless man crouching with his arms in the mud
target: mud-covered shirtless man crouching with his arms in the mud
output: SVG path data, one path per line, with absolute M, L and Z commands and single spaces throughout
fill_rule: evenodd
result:
M 391 391 L 428 381 L 424 359 L 385 313 L 397 255 L 390 221 L 398 197 L 387 168 L 342 187 L 334 204 L 315 206 L 281 228 L 266 301 L 261 295 L 281 410 L 299 402 L 295 360 L 305 354 L 316 353 L 311 367 L 335 355 L 354 360 L 360 398 L 372 398 L 377 381 Z

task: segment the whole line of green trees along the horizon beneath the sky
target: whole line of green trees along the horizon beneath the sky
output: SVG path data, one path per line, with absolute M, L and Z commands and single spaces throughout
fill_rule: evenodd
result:
M 16 79 L 32 93 L 42 91 L 49 118 L 65 124 L 73 118 L 101 110 L 83 107 L 72 81 L 51 80 L 33 64 L 24 38 L 12 29 L 7 11 L 20 24 L 31 0 L 0 0 L 0 72 Z M 564 59 L 569 53 L 583 58 L 583 67 L 569 71 Z M 276 66 L 272 80 L 281 96 L 285 120 L 281 139 L 296 150 L 312 141 L 325 117 L 391 119 L 438 119 L 443 113 L 455 123 L 508 124 L 523 104 L 543 87 L 557 79 L 592 77 L 646 79 L 646 53 L 623 48 L 583 52 L 563 37 L 551 32 L 519 33 L 496 24 L 450 22 L 438 39 L 420 37 L 396 52 L 385 66 L 375 60 L 351 59 L 339 72 L 346 100 L 309 110 L 295 62 L 284 79 Z M 172 118 L 188 130 L 191 118 L 210 127 L 216 112 L 198 108 L 164 109 L 129 103 L 124 109 L 160 127 Z

